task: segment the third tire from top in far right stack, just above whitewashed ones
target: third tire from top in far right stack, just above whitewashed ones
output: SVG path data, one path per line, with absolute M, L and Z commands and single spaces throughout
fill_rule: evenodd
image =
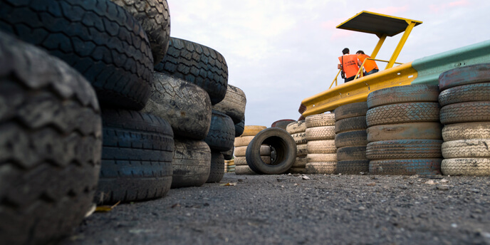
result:
M 441 108 L 441 123 L 473 123 L 490 121 L 490 101 L 464 102 Z

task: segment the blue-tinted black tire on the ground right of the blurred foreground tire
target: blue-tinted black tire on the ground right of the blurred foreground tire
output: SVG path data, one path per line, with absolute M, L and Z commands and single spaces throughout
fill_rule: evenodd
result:
M 133 110 L 103 110 L 102 167 L 95 202 L 163 197 L 172 183 L 174 134 L 166 120 Z

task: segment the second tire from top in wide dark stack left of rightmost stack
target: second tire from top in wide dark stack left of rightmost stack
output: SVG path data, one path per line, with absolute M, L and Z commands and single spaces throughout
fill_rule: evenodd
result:
M 417 102 L 381 105 L 368 110 L 368 127 L 395 123 L 439 122 L 439 103 Z

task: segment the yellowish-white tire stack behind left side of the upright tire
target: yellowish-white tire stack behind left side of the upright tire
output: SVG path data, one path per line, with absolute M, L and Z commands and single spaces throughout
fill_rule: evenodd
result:
M 256 125 L 246 125 L 244 127 L 244 132 L 240 137 L 235 137 L 235 174 L 256 174 L 252 171 L 246 163 L 246 147 L 249 145 L 251 140 L 254 139 L 255 135 L 261 130 L 265 130 L 265 126 Z M 268 145 L 261 146 L 260 149 L 261 159 L 266 163 L 271 163 L 271 148 Z

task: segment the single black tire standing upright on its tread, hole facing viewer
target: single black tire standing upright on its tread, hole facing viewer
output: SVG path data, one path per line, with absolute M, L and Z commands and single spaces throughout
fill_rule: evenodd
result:
M 273 165 L 267 165 L 261 160 L 260 147 L 264 144 L 276 150 L 276 160 Z M 251 170 L 259 174 L 283 174 L 296 160 L 296 151 L 296 143 L 286 130 L 269 127 L 251 140 L 246 149 L 246 162 Z

